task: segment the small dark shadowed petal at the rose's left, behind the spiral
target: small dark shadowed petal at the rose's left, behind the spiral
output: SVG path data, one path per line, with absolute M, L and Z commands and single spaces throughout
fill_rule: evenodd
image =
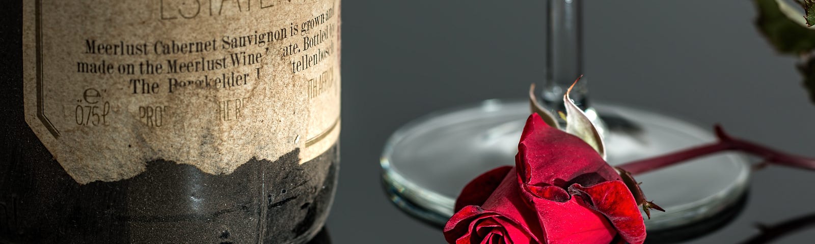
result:
M 512 168 L 512 166 L 494 168 L 469 181 L 456 199 L 456 207 L 453 210 L 459 211 L 469 205 L 482 206 Z

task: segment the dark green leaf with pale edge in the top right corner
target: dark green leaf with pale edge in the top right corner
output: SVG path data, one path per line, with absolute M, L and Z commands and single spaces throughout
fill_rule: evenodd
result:
M 813 2 L 813 0 L 801 0 Z M 804 26 L 803 14 L 783 0 L 754 0 L 759 11 L 756 26 L 778 52 L 804 54 L 815 50 L 815 29 Z M 812 4 L 810 4 L 811 6 Z

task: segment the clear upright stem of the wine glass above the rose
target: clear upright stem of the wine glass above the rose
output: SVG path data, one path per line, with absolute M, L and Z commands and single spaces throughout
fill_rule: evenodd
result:
M 583 31 L 580 0 L 548 0 L 546 26 L 546 85 L 541 98 L 552 111 L 564 111 L 563 94 L 583 74 Z M 588 109 L 586 77 L 575 85 L 570 98 Z

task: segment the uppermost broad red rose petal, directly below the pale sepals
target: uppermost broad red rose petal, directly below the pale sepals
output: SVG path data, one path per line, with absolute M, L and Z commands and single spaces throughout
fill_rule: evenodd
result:
M 518 145 L 516 166 L 525 185 L 594 185 L 618 180 L 619 174 L 597 151 L 569 133 L 554 129 L 532 114 Z

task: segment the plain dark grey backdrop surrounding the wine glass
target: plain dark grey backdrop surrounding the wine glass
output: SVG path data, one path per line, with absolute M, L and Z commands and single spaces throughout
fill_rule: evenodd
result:
M 381 190 L 379 156 L 395 129 L 431 111 L 523 98 L 545 74 L 545 1 L 346 0 L 342 6 L 340 185 L 334 243 L 443 243 Z M 721 123 L 729 133 L 815 155 L 815 106 L 753 22 L 751 1 L 584 1 L 593 100 Z M 757 172 L 745 211 L 692 243 L 734 243 L 815 213 L 815 172 Z M 815 229 L 782 238 L 811 243 Z

